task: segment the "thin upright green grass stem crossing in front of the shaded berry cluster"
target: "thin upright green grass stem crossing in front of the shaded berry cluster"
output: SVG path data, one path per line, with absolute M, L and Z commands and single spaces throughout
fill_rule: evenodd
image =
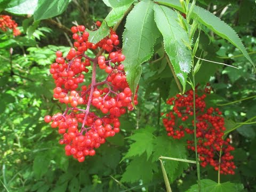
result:
M 193 70 L 193 68 L 192 68 Z M 192 71 L 194 74 L 194 71 Z M 195 87 L 195 76 L 193 75 L 193 86 Z M 196 170 L 197 170 L 197 182 L 198 182 L 198 191 L 201 192 L 201 181 L 200 181 L 200 165 L 197 155 L 197 139 L 196 139 L 196 90 L 193 89 L 193 116 L 194 116 L 194 142 L 195 142 L 195 153 L 196 153 Z

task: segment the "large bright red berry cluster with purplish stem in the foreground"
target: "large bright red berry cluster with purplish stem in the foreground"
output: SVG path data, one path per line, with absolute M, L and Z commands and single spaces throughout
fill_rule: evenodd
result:
M 101 23 L 96 25 L 99 27 Z M 94 149 L 105 143 L 107 137 L 119 132 L 119 117 L 126 113 L 126 108 L 133 110 L 132 92 L 121 64 L 125 57 L 116 46 L 119 40 L 115 31 L 110 29 L 110 36 L 97 44 L 88 41 L 89 33 L 84 26 L 74 26 L 71 31 L 75 48 L 71 48 L 66 57 L 57 51 L 56 62 L 50 69 L 56 85 L 53 97 L 65 103 L 66 110 L 52 117 L 47 115 L 44 121 L 51 122 L 51 127 L 58 127 L 59 133 L 63 134 L 59 143 L 66 145 L 66 155 L 73 155 L 83 162 L 85 156 L 95 154 Z M 98 47 L 102 50 L 95 58 L 85 54 L 87 49 Z M 101 55 L 104 50 L 107 53 Z M 96 81 L 98 67 L 106 72 L 102 82 Z M 92 77 L 85 85 L 84 74 L 89 69 L 92 69 Z M 134 105 L 138 104 L 137 91 Z

